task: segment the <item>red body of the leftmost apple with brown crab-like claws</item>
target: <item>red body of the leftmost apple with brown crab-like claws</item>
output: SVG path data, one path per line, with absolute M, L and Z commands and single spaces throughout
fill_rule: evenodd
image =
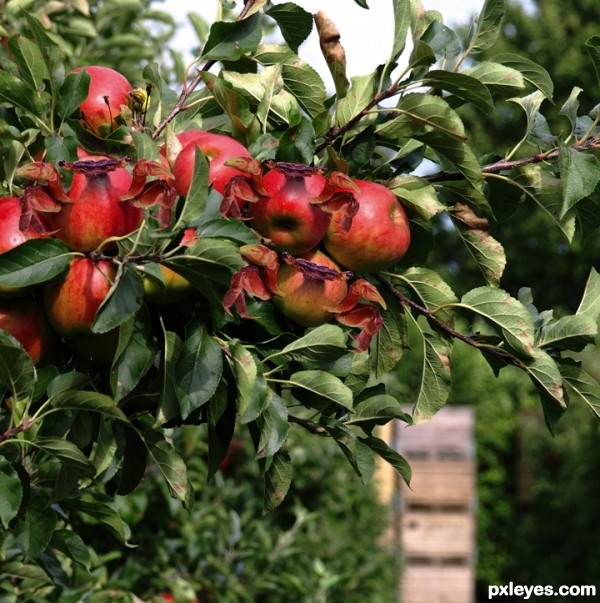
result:
M 88 156 L 85 159 L 106 158 Z M 75 173 L 67 193 L 72 203 L 65 203 L 56 214 L 48 214 L 56 238 L 71 251 L 87 253 L 109 237 L 133 232 L 140 225 L 143 212 L 139 207 L 121 202 L 131 180 L 125 168 L 106 174 Z

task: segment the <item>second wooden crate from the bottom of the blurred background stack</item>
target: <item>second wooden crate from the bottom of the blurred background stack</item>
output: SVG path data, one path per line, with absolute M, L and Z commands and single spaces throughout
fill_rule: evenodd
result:
M 475 519 L 470 513 L 408 511 L 402 514 L 405 564 L 421 559 L 469 560 L 473 555 Z

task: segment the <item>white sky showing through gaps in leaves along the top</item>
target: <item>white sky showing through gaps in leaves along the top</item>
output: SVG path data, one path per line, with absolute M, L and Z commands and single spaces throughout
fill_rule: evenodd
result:
M 287 0 L 276 0 L 281 4 Z M 391 0 L 368 0 L 369 10 L 360 8 L 353 0 L 294 0 L 311 13 L 324 10 L 336 24 L 346 51 L 349 76 L 364 75 L 384 63 L 390 53 L 393 34 L 393 10 Z M 241 5 L 241 1 L 239 2 Z M 484 0 L 423 0 L 425 8 L 439 10 L 449 25 L 464 23 L 481 10 Z M 165 0 L 162 7 L 170 12 L 180 26 L 175 41 L 179 50 L 189 48 L 190 27 L 186 15 L 195 12 L 212 22 L 218 7 L 217 0 Z M 187 40 L 186 40 L 187 38 Z M 313 31 L 300 48 L 300 56 L 321 73 L 327 71 L 321 56 L 319 42 Z M 191 57 L 188 57 L 191 58 Z

